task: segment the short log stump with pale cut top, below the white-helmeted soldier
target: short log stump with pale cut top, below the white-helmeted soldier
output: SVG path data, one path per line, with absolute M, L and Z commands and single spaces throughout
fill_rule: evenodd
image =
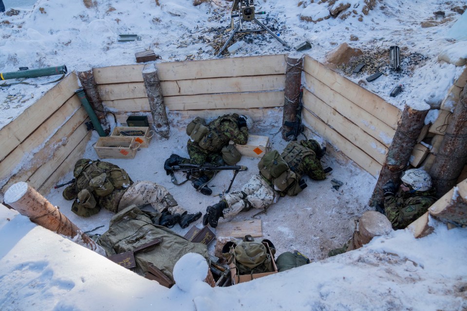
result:
M 384 236 L 392 231 L 391 221 L 376 211 L 366 211 L 358 221 L 358 230 L 355 230 L 346 252 L 362 247 L 372 238 Z

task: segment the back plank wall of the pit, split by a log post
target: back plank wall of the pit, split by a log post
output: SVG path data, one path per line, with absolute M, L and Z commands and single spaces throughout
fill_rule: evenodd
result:
M 204 110 L 229 113 L 236 109 L 255 111 L 284 104 L 285 55 L 157 63 L 155 66 L 164 104 L 170 111 L 197 110 L 200 115 Z M 147 115 L 152 122 L 141 74 L 143 67 L 93 69 L 104 105 L 116 113 L 117 121 L 122 124 L 126 123 L 128 115 Z M 191 115 L 187 113 L 187 117 Z

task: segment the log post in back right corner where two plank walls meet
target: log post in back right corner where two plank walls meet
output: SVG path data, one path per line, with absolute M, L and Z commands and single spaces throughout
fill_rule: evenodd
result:
M 285 121 L 294 122 L 299 107 L 299 95 L 301 88 L 301 72 L 303 68 L 303 57 L 291 58 L 287 56 L 287 67 L 285 69 L 284 108 L 282 116 L 282 138 L 289 141 L 293 136 L 285 137 L 285 133 L 291 131 L 291 127 L 283 125 Z

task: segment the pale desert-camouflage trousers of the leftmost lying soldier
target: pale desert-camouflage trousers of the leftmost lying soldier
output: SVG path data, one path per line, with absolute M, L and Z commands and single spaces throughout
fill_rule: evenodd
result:
M 142 207 L 150 204 L 156 212 L 167 208 L 170 214 L 184 214 L 187 210 L 173 199 L 167 188 L 157 183 L 143 181 L 133 183 L 123 194 L 118 204 L 118 212 L 130 205 Z

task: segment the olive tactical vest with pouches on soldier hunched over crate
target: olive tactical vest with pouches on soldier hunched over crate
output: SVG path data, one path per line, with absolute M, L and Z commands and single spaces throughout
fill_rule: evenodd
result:
M 188 124 L 187 134 L 206 151 L 219 152 L 230 140 L 221 130 L 221 123 L 225 120 L 237 123 L 238 114 L 224 114 L 207 125 L 203 118 L 197 117 Z

